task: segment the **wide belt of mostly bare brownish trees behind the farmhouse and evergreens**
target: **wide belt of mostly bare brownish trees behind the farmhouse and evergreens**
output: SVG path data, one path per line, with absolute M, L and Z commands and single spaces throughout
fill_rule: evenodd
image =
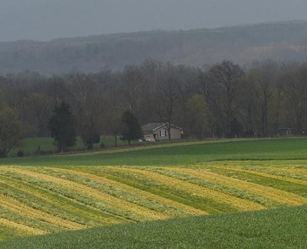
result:
M 224 60 L 199 69 L 146 59 L 122 71 L 105 67 L 96 73 L 51 77 L 30 71 L 2 75 L 2 150 L 12 147 L 9 133 L 15 140 L 18 135 L 49 137 L 50 120 L 61 103 L 70 106 L 84 147 L 101 134 L 114 135 L 116 143 L 125 111 L 140 124 L 180 126 L 191 139 L 271 137 L 286 127 L 302 135 L 307 122 L 307 64 L 265 60 L 242 67 Z M 170 126 L 165 129 L 171 140 Z

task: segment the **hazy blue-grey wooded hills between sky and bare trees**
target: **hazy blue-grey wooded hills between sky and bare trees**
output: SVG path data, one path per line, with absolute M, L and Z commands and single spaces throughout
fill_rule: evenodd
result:
M 307 61 L 307 20 L 190 31 L 149 31 L 60 38 L 48 42 L 0 42 L 0 73 L 91 72 L 122 69 L 152 57 L 204 66 L 223 59 Z

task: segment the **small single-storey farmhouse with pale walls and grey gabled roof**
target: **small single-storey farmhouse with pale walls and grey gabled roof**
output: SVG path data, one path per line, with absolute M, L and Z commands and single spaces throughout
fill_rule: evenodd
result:
M 141 128 L 143 130 L 144 139 L 147 141 L 150 140 L 168 140 L 168 132 L 167 132 L 167 123 L 148 123 L 143 125 Z M 170 134 L 171 139 L 181 139 L 181 135 L 183 134 L 183 129 L 170 124 Z

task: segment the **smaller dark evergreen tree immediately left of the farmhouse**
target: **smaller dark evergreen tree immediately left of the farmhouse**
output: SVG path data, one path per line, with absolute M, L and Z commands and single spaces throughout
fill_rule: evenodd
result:
M 131 140 L 137 140 L 143 137 L 141 125 L 131 111 L 124 112 L 122 122 L 124 128 L 121 140 L 128 141 L 128 144 L 130 145 Z

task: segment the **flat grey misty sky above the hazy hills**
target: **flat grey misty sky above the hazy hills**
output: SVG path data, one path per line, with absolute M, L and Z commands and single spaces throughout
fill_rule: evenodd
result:
M 306 0 L 0 0 L 0 41 L 307 19 Z

